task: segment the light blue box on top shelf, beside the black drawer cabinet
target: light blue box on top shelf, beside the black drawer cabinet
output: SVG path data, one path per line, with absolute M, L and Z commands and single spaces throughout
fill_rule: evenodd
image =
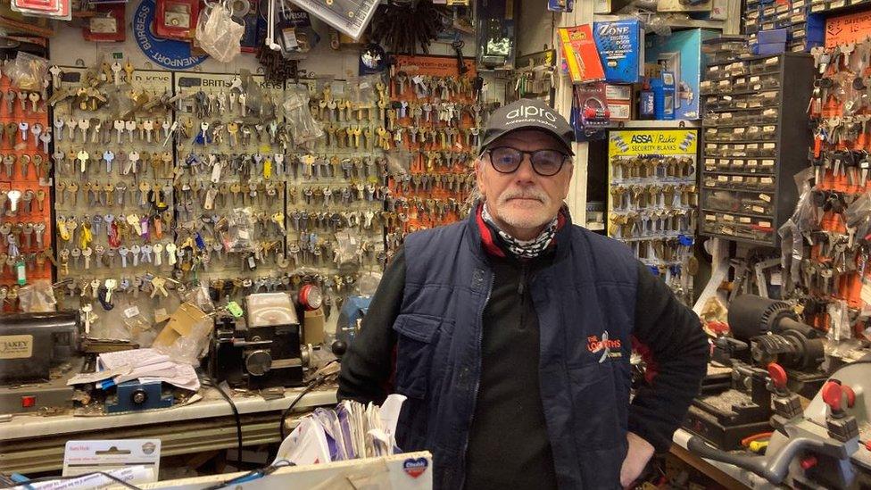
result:
M 669 37 L 656 34 L 645 37 L 645 63 L 675 74 L 675 119 L 701 118 L 699 82 L 705 64 L 701 42 L 717 36 L 718 33 L 712 30 L 689 29 L 673 32 Z

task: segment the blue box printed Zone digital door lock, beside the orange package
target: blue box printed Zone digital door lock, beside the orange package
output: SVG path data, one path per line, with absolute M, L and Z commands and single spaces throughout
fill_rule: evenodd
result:
M 635 20 L 593 22 L 605 81 L 635 83 L 644 74 L 644 29 Z

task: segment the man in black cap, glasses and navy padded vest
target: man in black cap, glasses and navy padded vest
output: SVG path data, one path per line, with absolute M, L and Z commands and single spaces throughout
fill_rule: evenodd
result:
M 408 397 L 435 488 L 619 488 L 665 451 L 708 361 L 699 319 L 629 249 L 572 225 L 568 122 L 491 116 L 469 219 L 411 234 L 345 354 L 339 397 Z M 629 357 L 647 383 L 629 401 Z

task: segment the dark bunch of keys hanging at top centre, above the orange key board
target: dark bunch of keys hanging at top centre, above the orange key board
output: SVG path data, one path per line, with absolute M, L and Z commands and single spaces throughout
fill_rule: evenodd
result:
M 444 29 L 437 8 L 424 0 L 414 4 L 379 5 L 372 21 L 372 40 L 393 53 L 429 54 L 429 43 Z

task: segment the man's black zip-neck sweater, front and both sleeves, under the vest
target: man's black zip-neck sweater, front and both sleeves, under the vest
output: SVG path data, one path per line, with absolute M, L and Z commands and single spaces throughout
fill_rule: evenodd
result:
M 556 488 L 551 445 L 539 393 L 538 316 L 527 284 L 552 253 L 519 261 L 491 256 L 494 288 L 484 312 L 482 372 L 469 431 L 464 488 Z M 393 324 L 405 286 L 402 250 L 378 286 L 361 332 L 342 359 L 339 399 L 382 403 L 391 391 Z M 708 361 L 707 337 L 693 311 L 638 262 L 635 337 L 652 355 L 652 385 L 630 407 L 629 430 L 659 451 L 697 394 Z M 649 376 L 650 377 L 650 376 Z

